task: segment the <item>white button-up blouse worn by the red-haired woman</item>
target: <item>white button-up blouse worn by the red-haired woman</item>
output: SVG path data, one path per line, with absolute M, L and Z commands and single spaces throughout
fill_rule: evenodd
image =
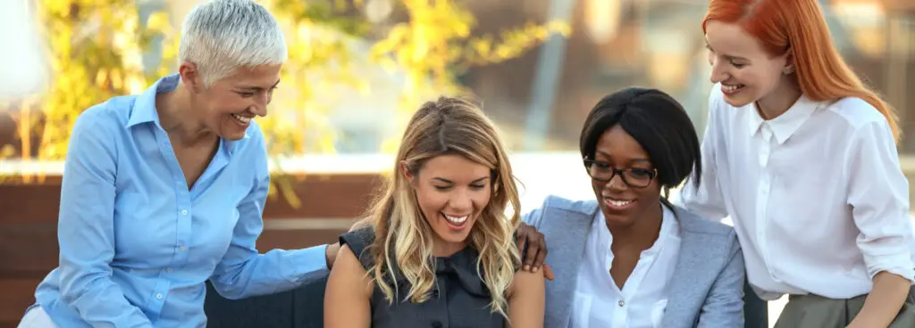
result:
M 879 271 L 915 279 L 909 184 L 887 120 L 857 98 L 801 97 L 769 121 L 709 97 L 702 185 L 676 203 L 731 217 L 760 297 L 848 299 Z

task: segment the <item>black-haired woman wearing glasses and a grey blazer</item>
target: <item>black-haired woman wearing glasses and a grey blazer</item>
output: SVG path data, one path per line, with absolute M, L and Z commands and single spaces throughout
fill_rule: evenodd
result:
M 702 172 L 683 107 L 660 90 L 620 90 L 591 110 L 580 144 L 596 199 L 550 196 L 524 216 L 555 273 L 544 326 L 743 327 L 734 230 L 666 199 L 694 165 Z

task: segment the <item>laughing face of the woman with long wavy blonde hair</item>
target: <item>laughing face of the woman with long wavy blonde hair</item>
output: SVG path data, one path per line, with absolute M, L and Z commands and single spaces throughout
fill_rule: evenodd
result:
M 435 232 L 436 255 L 463 249 L 474 223 L 490 203 L 490 168 L 457 154 L 436 156 L 407 174 L 425 221 Z

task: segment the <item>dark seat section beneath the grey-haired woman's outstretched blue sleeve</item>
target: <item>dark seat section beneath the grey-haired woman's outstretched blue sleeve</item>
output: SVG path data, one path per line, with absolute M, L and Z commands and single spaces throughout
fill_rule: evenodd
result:
M 229 300 L 220 296 L 207 282 L 208 328 L 323 328 L 324 288 L 328 272 L 317 273 L 293 291 Z

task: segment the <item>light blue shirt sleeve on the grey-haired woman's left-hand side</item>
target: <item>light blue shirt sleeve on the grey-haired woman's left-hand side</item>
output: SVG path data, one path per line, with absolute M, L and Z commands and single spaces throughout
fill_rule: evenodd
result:
M 60 190 L 60 296 L 92 326 L 152 327 L 111 279 L 117 144 L 102 106 L 83 112 L 70 135 Z

